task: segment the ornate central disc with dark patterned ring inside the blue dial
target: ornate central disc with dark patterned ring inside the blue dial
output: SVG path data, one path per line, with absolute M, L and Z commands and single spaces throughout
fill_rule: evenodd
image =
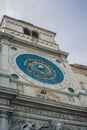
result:
M 56 76 L 53 68 L 45 62 L 37 59 L 27 59 L 24 65 L 28 71 L 40 78 L 52 78 Z

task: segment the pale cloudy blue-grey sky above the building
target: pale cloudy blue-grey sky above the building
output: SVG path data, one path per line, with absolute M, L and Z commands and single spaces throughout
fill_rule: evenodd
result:
M 87 0 L 0 0 L 3 15 L 56 32 L 69 63 L 87 65 Z

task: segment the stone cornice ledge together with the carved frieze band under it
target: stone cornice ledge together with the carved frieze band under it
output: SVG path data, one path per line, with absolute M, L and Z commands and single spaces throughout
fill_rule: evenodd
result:
M 15 109 L 15 113 L 23 113 L 26 115 L 33 116 L 37 115 L 38 118 L 57 118 L 63 119 L 65 121 L 76 121 L 77 122 L 87 122 L 87 109 L 85 107 L 77 107 L 74 105 L 62 104 L 62 103 L 52 103 L 44 102 L 43 100 L 36 100 L 35 98 L 25 99 L 25 97 L 18 96 L 15 100 L 12 100 L 11 107 Z M 71 118 L 72 117 L 72 118 Z M 73 122 L 72 122 L 73 123 Z

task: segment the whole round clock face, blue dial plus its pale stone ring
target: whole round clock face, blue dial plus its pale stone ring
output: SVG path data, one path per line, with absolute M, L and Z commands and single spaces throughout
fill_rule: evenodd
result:
M 51 89 L 62 89 L 67 86 L 67 76 L 49 58 L 36 54 L 20 54 L 9 57 L 12 68 L 22 78 L 32 84 Z

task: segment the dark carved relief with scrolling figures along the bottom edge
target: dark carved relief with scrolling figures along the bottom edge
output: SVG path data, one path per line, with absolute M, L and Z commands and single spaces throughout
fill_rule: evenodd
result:
M 87 130 L 87 126 L 68 125 L 58 120 L 42 122 L 35 119 L 15 117 L 11 120 L 9 130 Z

